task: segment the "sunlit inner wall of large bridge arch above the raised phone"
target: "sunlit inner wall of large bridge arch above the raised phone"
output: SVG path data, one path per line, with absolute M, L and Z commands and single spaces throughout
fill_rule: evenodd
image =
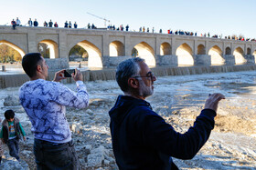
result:
M 77 45 L 80 45 L 83 49 L 87 51 L 88 67 L 102 68 L 101 50 L 96 45 L 93 45 L 91 42 L 87 40 L 83 40 L 79 42 Z M 73 46 L 69 47 L 69 52 Z

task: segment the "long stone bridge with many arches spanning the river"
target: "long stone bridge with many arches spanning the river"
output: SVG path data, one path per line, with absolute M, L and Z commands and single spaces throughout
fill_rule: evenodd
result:
M 97 29 L 0 26 L 0 44 L 20 55 L 49 47 L 50 58 L 69 61 L 74 45 L 84 48 L 89 67 L 112 67 L 140 56 L 147 65 L 255 65 L 256 43 L 190 35 L 167 35 Z

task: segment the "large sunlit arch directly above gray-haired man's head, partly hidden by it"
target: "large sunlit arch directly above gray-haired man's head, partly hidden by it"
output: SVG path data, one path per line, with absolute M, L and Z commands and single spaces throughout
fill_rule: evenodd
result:
M 138 52 L 138 57 L 144 58 L 145 63 L 149 66 L 155 66 L 155 53 L 154 49 L 145 42 L 141 42 L 135 45 L 135 48 Z

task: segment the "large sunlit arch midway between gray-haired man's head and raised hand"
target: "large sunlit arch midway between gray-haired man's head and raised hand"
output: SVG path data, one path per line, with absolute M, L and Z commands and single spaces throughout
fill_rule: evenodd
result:
M 177 65 L 194 65 L 192 48 L 184 43 L 176 48 Z

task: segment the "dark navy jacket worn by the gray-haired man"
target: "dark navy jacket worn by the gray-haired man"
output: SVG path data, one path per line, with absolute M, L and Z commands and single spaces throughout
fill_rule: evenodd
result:
M 177 169 L 171 156 L 192 159 L 208 140 L 216 116 L 204 109 L 194 126 L 180 134 L 149 103 L 124 95 L 118 96 L 109 114 L 113 153 L 121 170 Z

